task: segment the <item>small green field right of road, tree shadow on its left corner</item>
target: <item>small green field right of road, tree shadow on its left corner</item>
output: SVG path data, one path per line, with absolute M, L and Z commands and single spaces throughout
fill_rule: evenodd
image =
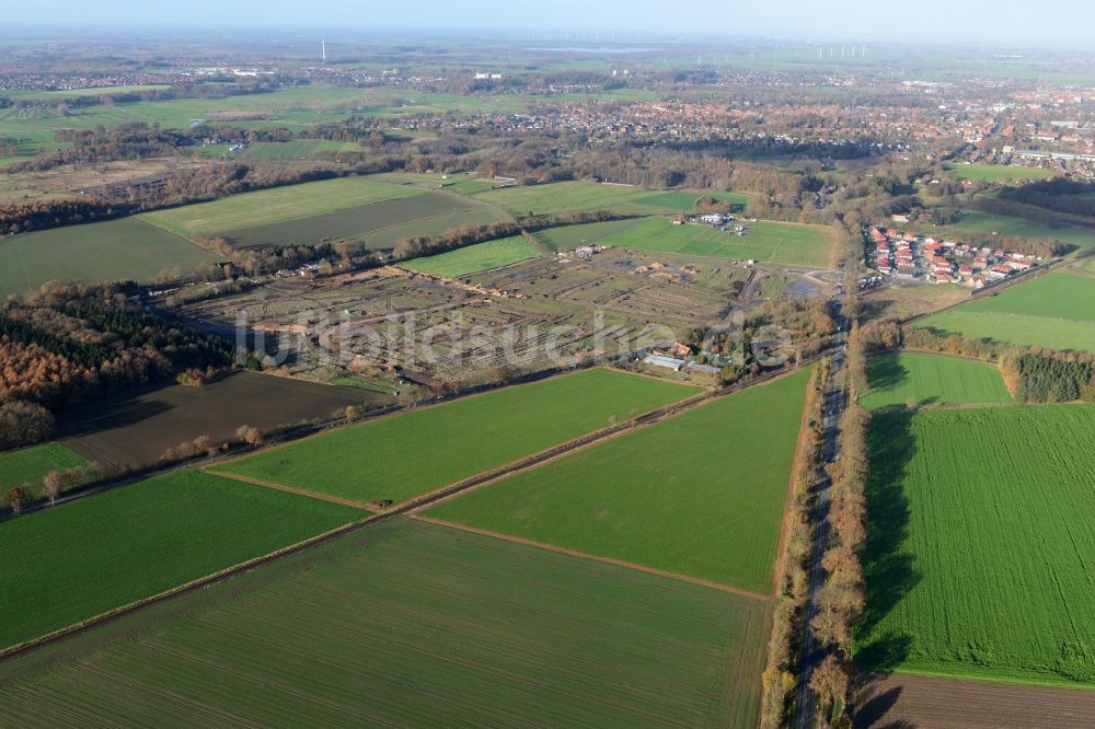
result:
M 871 391 L 860 404 L 868 410 L 904 405 L 1010 403 L 1000 369 L 943 355 L 900 352 L 872 357 L 867 362 Z

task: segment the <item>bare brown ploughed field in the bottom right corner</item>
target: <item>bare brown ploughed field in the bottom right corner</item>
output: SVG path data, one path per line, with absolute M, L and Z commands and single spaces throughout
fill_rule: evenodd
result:
M 858 729 L 1030 729 L 1095 726 L 1095 691 L 989 681 L 889 675 L 871 681 L 855 706 Z

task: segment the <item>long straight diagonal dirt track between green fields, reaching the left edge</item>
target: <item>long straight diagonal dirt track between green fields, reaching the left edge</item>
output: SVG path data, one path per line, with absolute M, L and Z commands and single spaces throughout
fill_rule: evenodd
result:
M 703 403 L 712 401 L 712 400 L 714 400 L 716 397 L 728 395 L 728 394 L 738 392 L 740 390 L 745 390 L 747 387 L 761 386 L 761 385 L 766 384 L 766 383 L 769 383 L 769 382 L 771 382 L 773 380 L 779 380 L 779 379 L 782 379 L 784 377 L 789 377 L 789 375 L 794 374 L 795 372 L 797 372 L 800 368 L 807 367 L 809 364 L 812 364 L 815 361 L 817 361 L 818 359 L 820 359 L 822 356 L 825 356 L 827 354 L 829 354 L 829 350 L 823 350 L 822 352 L 819 352 L 818 355 L 815 355 L 811 358 L 807 358 L 807 359 L 803 360 L 802 362 L 799 362 L 799 367 L 797 367 L 797 368 L 785 369 L 785 370 L 775 370 L 775 371 L 772 371 L 772 372 L 768 372 L 768 373 L 761 374 L 758 378 L 749 380 L 747 382 L 737 382 L 737 383 L 734 383 L 734 384 L 725 385 L 725 386 L 716 389 L 716 390 L 708 390 L 708 391 L 705 391 L 705 392 L 701 392 L 701 393 L 699 393 L 696 395 L 693 395 L 691 397 L 687 397 L 687 398 L 684 398 L 682 401 L 679 401 L 679 402 L 676 402 L 676 403 L 670 403 L 669 405 L 666 405 L 666 406 L 662 406 L 662 407 L 657 408 L 655 410 L 652 410 L 650 413 L 647 413 L 645 415 L 641 415 L 641 416 L 638 416 L 638 417 L 636 417 L 636 418 L 634 418 L 632 420 L 626 420 L 624 423 L 618 424 L 615 426 L 611 426 L 609 428 L 603 428 L 601 430 L 596 430 L 596 431 L 593 431 L 591 433 L 587 433 L 587 435 L 581 436 L 579 438 L 576 438 L 574 440 L 569 440 L 569 441 L 567 441 L 565 443 L 561 443 L 561 444 L 555 445 L 553 448 L 550 448 L 548 450 L 541 451 L 540 453 L 535 453 L 533 455 L 525 458 L 525 459 L 522 459 L 520 461 L 516 461 L 516 462 L 512 462 L 512 463 L 499 466 L 499 467 L 494 468 L 492 471 L 487 471 L 487 472 L 484 472 L 482 474 L 477 474 L 477 475 L 472 476 L 470 478 L 465 478 L 463 481 L 456 482 L 456 483 L 450 484 L 450 485 L 448 485 L 446 487 L 442 487 L 442 488 L 439 488 L 437 490 L 430 491 L 428 494 L 424 494 L 424 495 L 418 496 L 416 498 L 410 499 L 410 500 L 404 501 L 403 504 L 394 507 L 390 511 L 385 511 L 385 512 L 380 513 L 380 514 L 367 517 L 366 519 L 362 519 L 362 520 L 359 520 L 359 521 L 350 522 L 350 523 L 345 524 L 343 526 L 339 526 L 337 529 L 331 530 L 330 532 L 325 532 L 325 533 L 320 534 L 318 536 L 313 536 L 313 537 L 304 540 L 302 542 L 298 542 L 297 544 L 289 545 L 287 547 L 278 549 L 276 552 L 272 552 L 269 554 L 256 557 L 256 558 L 251 559 L 249 562 L 241 563 L 241 564 L 235 565 L 233 567 L 229 567 L 229 568 L 223 569 L 223 570 L 221 570 L 219 572 L 215 572 L 215 574 L 209 575 L 207 577 L 198 578 L 196 580 L 193 580 L 193 581 L 187 582 L 185 585 L 181 585 L 181 586 L 178 586 L 176 588 L 172 588 L 172 589 L 166 590 L 164 592 L 161 592 L 159 594 L 154 594 L 154 595 L 151 595 L 151 597 L 138 600 L 136 602 L 129 603 L 127 605 L 123 605 L 120 608 L 116 608 L 115 610 L 112 610 L 110 612 L 96 615 L 96 616 L 91 617 L 91 618 L 88 618 L 87 621 L 83 621 L 81 623 L 77 623 L 77 624 L 67 626 L 65 628 L 61 628 L 59 630 L 55 630 L 54 633 L 49 633 L 47 635 L 41 636 L 41 637 L 35 638 L 33 640 L 28 640 L 28 641 L 23 643 L 23 644 L 19 644 L 19 645 L 15 645 L 15 646 L 8 647 L 8 648 L 5 648 L 3 650 L 0 650 L 0 662 L 7 662 L 7 661 L 13 660 L 15 658 L 19 658 L 21 656 L 25 656 L 27 653 L 34 652 L 34 651 L 36 651 L 36 650 L 38 650 L 41 648 L 46 647 L 46 646 L 50 646 L 50 645 L 60 643 L 60 641 L 62 641 L 62 640 L 65 640 L 65 639 L 67 639 L 69 637 L 72 637 L 72 636 L 85 633 L 88 630 L 91 630 L 92 628 L 95 628 L 95 627 L 97 627 L 100 625 L 106 625 L 108 623 L 112 623 L 112 622 L 114 622 L 114 621 L 116 621 L 116 620 L 118 620 L 118 618 L 120 618 L 120 617 L 123 617 L 125 615 L 129 615 L 131 613 L 136 613 L 136 612 L 138 612 L 138 611 L 140 611 L 140 610 L 142 610 L 145 608 L 149 608 L 149 606 L 152 606 L 152 605 L 155 605 L 155 604 L 160 604 L 162 602 L 166 602 L 168 600 L 172 600 L 174 598 L 180 598 L 182 595 L 189 594 L 192 592 L 196 592 L 197 590 L 205 589 L 205 588 L 207 588 L 207 587 L 209 587 L 211 585 L 217 585 L 219 582 L 223 582 L 223 581 L 229 580 L 229 579 L 231 579 L 231 578 L 233 578 L 233 577 L 235 577 L 238 575 L 242 575 L 244 572 L 249 572 L 249 571 L 251 571 L 253 569 L 256 569 L 258 567 L 262 567 L 264 565 L 268 565 L 268 564 L 278 562 L 278 560 L 280 560 L 280 559 L 283 559 L 285 557 L 290 557 L 290 556 L 293 556 L 293 555 L 298 555 L 298 554 L 308 552 L 310 549 L 313 549 L 315 547 L 322 546 L 324 544 L 327 544 L 327 543 L 333 542 L 335 540 L 342 539 L 342 537 L 347 536 L 349 534 L 354 534 L 356 532 L 359 532 L 359 531 L 361 531 L 364 529 L 368 529 L 369 526 L 373 526 L 376 524 L 380 524 L 380 523 L 390 521 L 392 519 L 397 519 L 400 517 L 408 516 L 412 512 L 417 511 L 418 509 L 423 509 L 425 507 L 433 506 L 434 504 L 437 504 L 437 502 L 439 502 L 439 501 L 441 501 L 443 499 L 447 499 L 447 498 L 449 498 L 451 496 L 454 496 L 454 495 L 457 495 L 459 493 L 476 488 L 476 487 L 479 487 L 479 486 L 481 486 L 483 484 L 496 481 L 496 479 L 502 478 L 504 476 L 507 476 L 507 475 L 509 475 L 511 473 L 516 473 L 518 471 L 523 471 L 526 468 L 533 467 L 535 465 L 540 465 L 540 464 L 542 464 L 544 462 L 548 462 L 550 460 L 558 458 L 558 456 L 561 456 L 561 455 L 563 455 L 565 453 L 569 453 L 570 451 L 575 451 L 575 450 L 578 450 L 578 449 L 581 449 L 581 448 L 586 448 L 587 445 L 590 445 L 592 443 L 597 443 L 599 441 L 602 441 L 602 440 L 615 437 L 616 435 L 619 435 L 619 433 L 621 433 L 621 432 L 623 432 L 625 430 L 630 430 L 630 429 L 638 428 L 638 427 L 644 427 L 644 426 L 649 426 L 649 425 L 653 425 L 655 423 L 659 423 L 659 421 L 661 421 L 661 420 L 664 420 L 666 418 L 669 418 L 669 417 L 672 417 L 672 416 L 678 415 L 680 413 L 683 413 L 685 410 L 692 409 L 693 407 L 698 407 L 698 406 L 702 405 Z

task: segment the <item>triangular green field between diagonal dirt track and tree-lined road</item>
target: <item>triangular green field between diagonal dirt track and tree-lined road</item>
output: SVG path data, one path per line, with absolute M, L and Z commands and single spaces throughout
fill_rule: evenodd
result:
M 808 379 L 722 397 L 426 516 L 770 594 Z

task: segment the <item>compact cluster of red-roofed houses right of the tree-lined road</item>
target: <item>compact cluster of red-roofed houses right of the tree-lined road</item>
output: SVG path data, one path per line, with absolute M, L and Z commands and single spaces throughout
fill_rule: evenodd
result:
M 875 267 L 884 276 L 957 284 L 972 289 L 1001 281 L 1038 266 L 1041 258 L 1022 251 L 977 247 L 899 231 L 867 229 Z

